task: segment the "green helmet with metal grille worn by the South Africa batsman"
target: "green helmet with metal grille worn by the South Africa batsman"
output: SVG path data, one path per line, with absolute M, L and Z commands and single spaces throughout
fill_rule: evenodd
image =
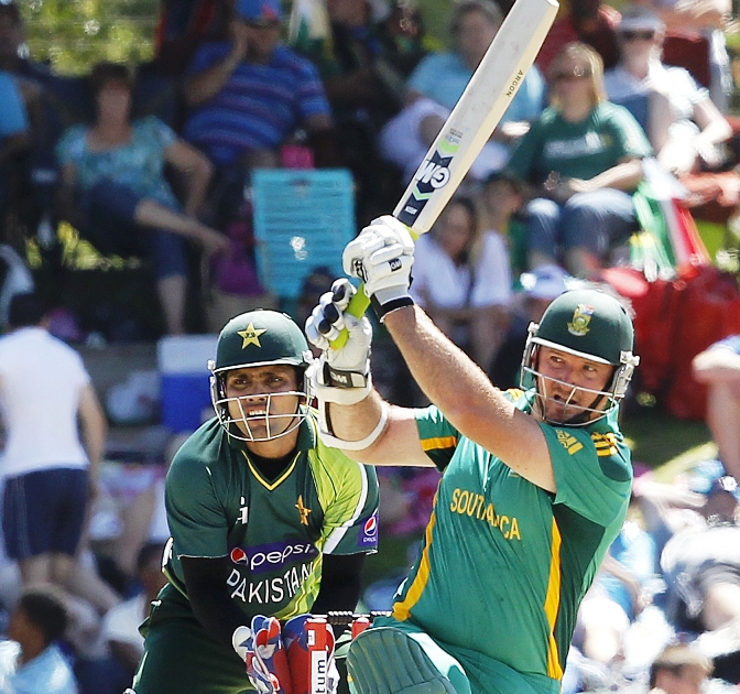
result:
M 557 424 L 585 425 L 606 416 L 627 393 L 634 367 L 640 362 L 640 357 L 632 354 L 632 319 L 621 302 L 606 292 L 592 289 L 561 294 L 547 306 L 538 324 L 530 324 L 522 357 L 522 386 L 536 387 L 538 406 L 543 413 L 546 412 L 547 400 L 551 399 L 547 393 L 548 381 L 556 382 L 556 379 L 545 377 L 538 371 L 540 346 L 614 367 L 605 390 L 590 390 L 565 383 L 572 388 L 565 401 L 566 406 L 577 391 L 591 394 L 594 399 L 589 406 L 572 405 L 574 416 L 567 422 L 553 422 Z M 595 413 L 597 416 L 594 416 Z M 546 416 L 545 419 L 547 420 Z

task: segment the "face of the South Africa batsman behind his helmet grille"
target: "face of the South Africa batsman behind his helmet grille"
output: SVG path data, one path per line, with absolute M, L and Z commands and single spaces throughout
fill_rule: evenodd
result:
M 537 371 L 541 414 L 548 422 L 567 424 L 574 418 L 589 421 L 608 403 L 606 394 L 599 393 L 611 379 L 613 367 L 609 364 L 540 346 Z

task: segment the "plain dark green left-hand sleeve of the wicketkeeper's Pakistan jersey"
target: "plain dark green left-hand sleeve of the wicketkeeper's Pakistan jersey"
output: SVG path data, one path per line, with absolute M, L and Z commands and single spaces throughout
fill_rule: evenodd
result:
M 165 482 L 165 508 L 178 557 L 217 559 L 228 553 L 228 523 L 208 467 L 187 447 L 175 455 Z

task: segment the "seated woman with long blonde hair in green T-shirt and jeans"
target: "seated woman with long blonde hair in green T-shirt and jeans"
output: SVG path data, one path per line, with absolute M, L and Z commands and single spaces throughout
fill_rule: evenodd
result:
M 526 207 L 531 268 L 564 263 L 598 279 L 610 249 L 636 229 L 632 193 L 651 148 L 632 115 L 607 101 L 602 75 L 594 48 L 567 44 L 551 64 L 551 107 L 509 162 L 538 194 Z

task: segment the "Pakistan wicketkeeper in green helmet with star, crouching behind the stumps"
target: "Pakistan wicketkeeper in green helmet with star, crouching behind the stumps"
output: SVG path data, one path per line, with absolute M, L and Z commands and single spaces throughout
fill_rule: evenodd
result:
M 318 438 L 311 360 L 285 314 L 252 311 L 221 330 L 216 416 L 167 473 L 168 584 L 142 626 L 135 694 L 309 694 L 307 612 L 355 609 L 378 545 L 378 479 Z

